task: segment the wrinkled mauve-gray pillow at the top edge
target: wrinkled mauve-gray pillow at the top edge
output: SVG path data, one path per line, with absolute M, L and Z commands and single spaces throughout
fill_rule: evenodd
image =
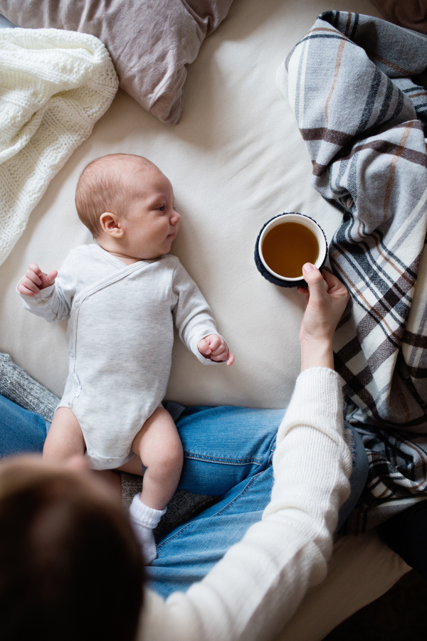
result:
M 181 117 L 186 64 L 233 0 L 0 0 L 19 27 L 83 31 L 110 52 L 120 87 L 168 125 Z

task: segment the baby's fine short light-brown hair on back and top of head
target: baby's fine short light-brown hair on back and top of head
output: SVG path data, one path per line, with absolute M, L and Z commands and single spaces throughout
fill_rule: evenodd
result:
M 94 238 L 102 228 L 100 216 L 110 211 L 117 216 L 125 216 L 125 204 L 129 193 L 122 181 L 124 171 L 141 171 L 158 167 L 135 154 L 108 154 L 91 161 L 83 169 L 75 190 L 75 206 L 78 217 Z

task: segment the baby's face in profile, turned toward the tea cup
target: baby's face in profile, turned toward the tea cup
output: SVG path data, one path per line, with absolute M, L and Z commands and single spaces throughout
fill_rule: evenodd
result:
M 127 253 L 139 260 L 169 253 L 181 216 L 174 210 L 172 184 L 161 171 L 144 169 L 127 176 L 129 204 L 122 228 Z

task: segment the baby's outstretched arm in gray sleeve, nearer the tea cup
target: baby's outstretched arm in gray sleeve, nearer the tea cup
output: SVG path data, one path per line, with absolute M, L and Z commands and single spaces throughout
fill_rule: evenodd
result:
M 216 330 L 211 308 L 181 263 L 176 265 L 172 287 L 173 314 L 181 341 L 202 363 L 227 361 L 231 365 L 234 356 Z

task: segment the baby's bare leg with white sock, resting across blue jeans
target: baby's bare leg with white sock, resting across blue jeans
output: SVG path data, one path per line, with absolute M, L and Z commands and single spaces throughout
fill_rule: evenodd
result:
M 157 556 L 153 529 L 175 492 L 183 461 L 181 440 L 167 410 L 157 408 L 152 413 L 135 436 L 132 450 L 147 469 L 142 492 L 133 498 L 130 516 L 145 560 L 151 563 Z

